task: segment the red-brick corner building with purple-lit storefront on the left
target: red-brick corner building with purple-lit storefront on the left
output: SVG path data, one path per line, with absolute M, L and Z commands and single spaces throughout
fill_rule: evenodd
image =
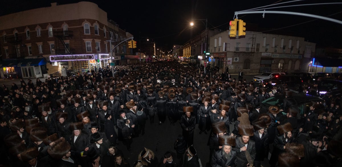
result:
M 130 34 L 92 2 L 51 3 L 51 7 L 1 16 L 0 22 L 0 47 L 5 55 L 1 75 L 43 77 L 62 69 L 84 73 L 121 64 L 124 55 L 133 54 L 123 42 L 113 49 L 111 59 L 110 48 Z

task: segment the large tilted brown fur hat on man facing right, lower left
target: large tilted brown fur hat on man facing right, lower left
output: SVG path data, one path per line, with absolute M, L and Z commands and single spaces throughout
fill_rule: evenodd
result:
M 55 159 L 60 160 L 63 156 L 68 154 L 71 149 L 71 145 L 65 141 L 64 138 L 60 138 L 48 148 L 49 155 Z

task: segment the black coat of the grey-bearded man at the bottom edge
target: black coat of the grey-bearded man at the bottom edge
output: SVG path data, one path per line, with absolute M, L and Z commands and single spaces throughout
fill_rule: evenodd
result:
M 231 150 L 232 156 L 228 159 L 223 156 L 223 152 L 221 149 L 215 150 L 214 154 L 211 157 L 210 166 L 211 167 L 235 167 L 237 165 L 236 162 L 236 151 Z

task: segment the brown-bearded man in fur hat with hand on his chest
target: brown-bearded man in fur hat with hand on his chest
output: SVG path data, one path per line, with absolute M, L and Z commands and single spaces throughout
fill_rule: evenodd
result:
M 249 123 L 248 120 L 241 122 Z M 249 138 L 254 135 L 254 128 L 252 125 L 250 125 L 250 123 L 240 123 L 238 129 L 241 137 L 236 138 L 237 167 L 253 166 L 255 155 L 257 154 L 257 152 L 255 151 L 255 142 L 253 140 L 249 140 Z

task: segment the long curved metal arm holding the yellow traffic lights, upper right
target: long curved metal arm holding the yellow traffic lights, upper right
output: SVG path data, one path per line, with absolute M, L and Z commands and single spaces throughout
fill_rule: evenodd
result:
M 335 23 L 342 24 L 342 21 L 336 20 L 333 18 L 329 17 L 324 17 L 324 16 L 319 16 L 319 15 L 314 15 L 314 14 L 307 14 L 307 13 L 299 13 L 299 12 L 286 12 L 286 11 L 248 11 L 248 12 L 235 12 L 236 18 L 238 14 L 253 14 L 253 13 L 275 13 L 275 14 L 291 14 L 291 15 L 298 15 L 298 16 L 306 16 L 306 17 L 313 17 L 313 18 L 319 18 Z

